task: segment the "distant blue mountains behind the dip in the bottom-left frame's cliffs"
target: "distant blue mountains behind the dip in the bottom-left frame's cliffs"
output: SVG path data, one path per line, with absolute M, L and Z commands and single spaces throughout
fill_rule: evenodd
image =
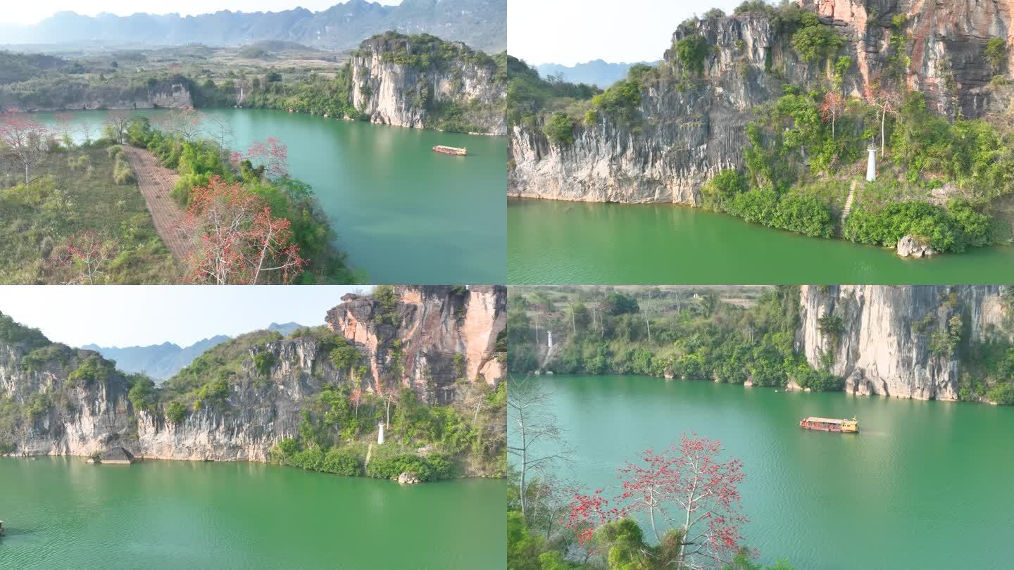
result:
M 288 336 L 299 327 L 300 325 L 297 323 L 285 323 L 282 325 L 272 323 L 268 329 Z M 230 338 L 225 335 L 216 335 L 185 348 L 172 343 L 126 348 L 85 345 L 81 348 L 93 350 L 105 358 L 116 360 L 117 368 L 125 372 L 144 372 L 151 376 L 152 379 L 158 381 L 172 377 L 173 374 L 193 362 L 195 358 L 201 356 L 206 350 L 220 345 Z

